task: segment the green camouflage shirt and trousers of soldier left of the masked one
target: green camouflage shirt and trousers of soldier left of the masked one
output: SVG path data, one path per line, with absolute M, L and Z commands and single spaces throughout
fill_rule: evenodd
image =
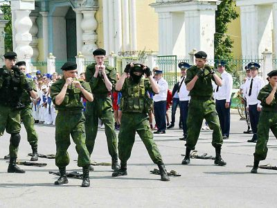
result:
M 111 157 L 117 157 L 117 137 L 114 130 L 115 119 L 111 98 L 108 96 L 109 91 L 105 85 L 104 78 L 102 78 L 102 76 L 98 76 L 97 78 L 93 77 L 95 66 L 96 64 L 90 64 L 87 66 L 85 73 L 86 81 L 89 82 L 91 92 L 94 96 L 93 102 L 87 103 L 85 112 L 87 149 L 91 155 L 98 132 L 98 119 L 101 119 L 105 125 L 109 155 L 111 155 Z M 116 85 L 116 71 L 113 67 L 106 66 L 105 72 L 112 84 L 112 88 L 114 89 L 114 86 Z

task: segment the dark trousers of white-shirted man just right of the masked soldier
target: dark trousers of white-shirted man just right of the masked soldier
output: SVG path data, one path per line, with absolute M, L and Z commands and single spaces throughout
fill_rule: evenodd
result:
M 166 101 L 154 102 L 154 116 L 158 131 L 166 130 Z

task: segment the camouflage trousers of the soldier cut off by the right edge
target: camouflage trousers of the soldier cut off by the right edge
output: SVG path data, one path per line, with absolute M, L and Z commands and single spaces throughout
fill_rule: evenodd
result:
M 277 112 L 260 112 L 260 119 L 258 123 L 258 141 L 254 153 L 254 159 L 264 160 L 267 158 L 267 141 L 269 140 L 269 130 L 277 138 Z

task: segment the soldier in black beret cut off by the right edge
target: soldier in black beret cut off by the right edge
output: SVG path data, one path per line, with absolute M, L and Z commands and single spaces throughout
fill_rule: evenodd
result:
M 258 123 L 258 141 L 254 153 L 254 164 L 251 173 L 257 173 L 260 160 L 267 158 L 267 141 L 269 130 L 277 138 L 277 70 L 270 71 L 267 76 L 269 83 L 260 89 L 258 100 L 261 101 L 262 112 Z

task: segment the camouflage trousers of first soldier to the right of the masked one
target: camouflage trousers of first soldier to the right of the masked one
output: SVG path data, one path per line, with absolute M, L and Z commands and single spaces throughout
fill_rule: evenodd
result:
M 188 137 L 186 139 L 186 146 L 190 150 L 195 149 L 203 119 L 206 119 L 208 126 L 213 130 L 213 147 L 221 147 L 223 144 L 220 120 L 215 110 L 215 102 L 211 99 L 191 98 L 188 105 Z

